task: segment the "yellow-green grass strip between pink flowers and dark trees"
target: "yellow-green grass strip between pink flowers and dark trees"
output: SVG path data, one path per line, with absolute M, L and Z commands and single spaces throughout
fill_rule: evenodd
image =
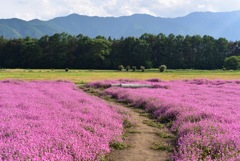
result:
M 1 69 L 0 80 L 20 79 L 20 80 L 69 80 L 75 83 L 87 83 L 96 80 L 108 79 L 150 79 L 159 78 L 161 80 L 180 79 L 240 79 L 240 71 L 222 70 L 167 70 L 160 73 L 158 70 L 146 70 L 145 72 L 125 72 L 114 70 L 42 70 L 42 69 Z

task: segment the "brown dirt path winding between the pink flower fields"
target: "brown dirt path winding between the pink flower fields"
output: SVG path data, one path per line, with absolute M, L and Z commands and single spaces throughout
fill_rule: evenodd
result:
M 86 89 L 84 89 L 87 91 Z M 89 91 L 87 91 L 89 92 Z M 96 94 L 96 93 L 95 93 Z M 127 148 L 112 149 L 105 157 L 105 161 L 167 161 L 173 154 L 174 136 L 165 125 L 150 119 L 144 110 L 137 109 L 108 99 L 110 104 L 117 104 L 125 109 L 134 123 L 125 129 Z

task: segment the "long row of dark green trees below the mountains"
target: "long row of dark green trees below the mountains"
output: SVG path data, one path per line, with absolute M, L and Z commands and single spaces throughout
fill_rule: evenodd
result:
M 170 69 L 221 69 L 240 56 L 240 42 L 211 36 L 152 35 L 112 39 L 66 33 L 5 39 L 0 37 L 0 68 L 117 69 L 123 66 Z

